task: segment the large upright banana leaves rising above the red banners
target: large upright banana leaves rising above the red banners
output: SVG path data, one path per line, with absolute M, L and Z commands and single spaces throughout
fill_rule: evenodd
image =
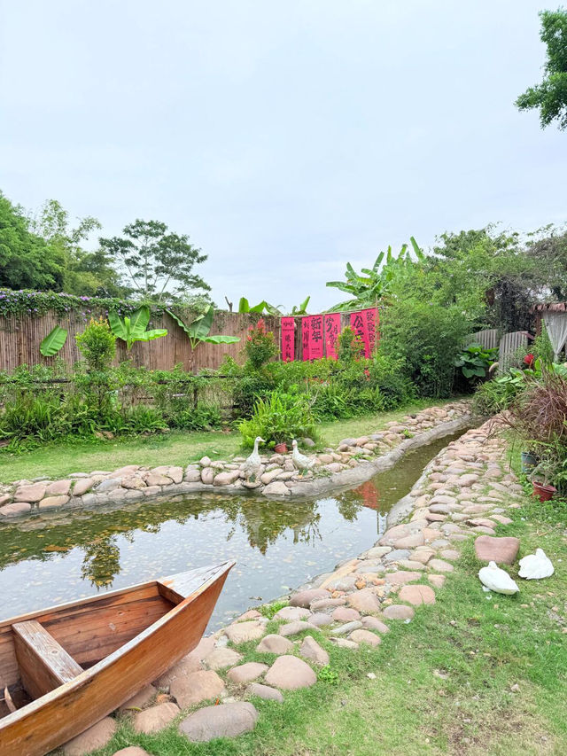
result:
M 397 255 L 392 253 L 391 246 L 388 247 L 387 252 L 379 253 L 371 269 L 361 269 L 362 275 L 353 269 L 350 262 L 347 262 L 346 282 L 329 281 L 327 286 L 350 294 L 351 299 L 330 308 L 329 312 L 376 307 L 378 301 L 389 297 L 392 292 L 392 282 L 399 272 L 415 265 L 416 262 L 422 262 L 425 258 L 423 251 L 417 246 L 416 239 L 410 237 L 410 242 L 416 255 L 416 261 L 414 261 L 408 245 L 404 244 Z

